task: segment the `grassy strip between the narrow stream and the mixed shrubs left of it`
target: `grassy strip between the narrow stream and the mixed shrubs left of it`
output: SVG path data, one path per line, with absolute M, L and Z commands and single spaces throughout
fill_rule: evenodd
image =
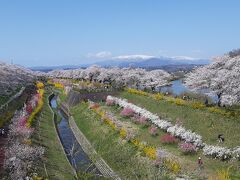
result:
M 46 91 L 42 112 L 35 120 L 37 133 L 33 137 L 33 142 L 45 147 L 43 159 L 45 167 L 44 164 L 38 167 L 39 174 L 45 177 L 48 174 L 49 179 L 75 179 L 55 130 L 53 113 L 48 105 L 49 95 L 49 91 Z

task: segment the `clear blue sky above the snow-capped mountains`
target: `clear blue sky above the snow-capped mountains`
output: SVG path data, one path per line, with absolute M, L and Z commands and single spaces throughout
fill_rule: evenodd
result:
M 211 58 L 239 48 L 239 0 L 1 0 L 0 60 L 82 64 L 122 55 Z

